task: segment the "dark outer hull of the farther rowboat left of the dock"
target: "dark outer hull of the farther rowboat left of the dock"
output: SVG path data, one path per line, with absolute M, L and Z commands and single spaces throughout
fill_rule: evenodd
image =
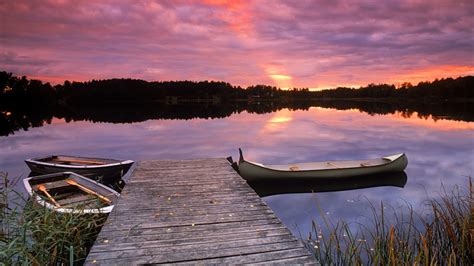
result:
M 100 182 L 114 182 L 127 173 L 132 164 L 131 160 L 105 164 L 105 165 L 64 165 L 35 161 L 34 159 L 25 160 L 25 163 L 35 175 L 54 174 L 60 172 L 73 172 L 87 178 Z

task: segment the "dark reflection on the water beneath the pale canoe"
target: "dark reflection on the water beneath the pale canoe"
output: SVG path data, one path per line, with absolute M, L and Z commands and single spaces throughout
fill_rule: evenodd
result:
M 281 194 L 333 192 L 386 186 L 403 188 L 407 183 L 407 179 L 405 172 L 393 172 L 334 179 L 265 179 L 248 181 L 248 184 L 260 197 L 267 197 Z

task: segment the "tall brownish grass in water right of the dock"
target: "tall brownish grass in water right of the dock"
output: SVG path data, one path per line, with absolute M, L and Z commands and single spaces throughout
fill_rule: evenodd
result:
M 368 224 L 313 221 L 306 241 L 323 265 L 473 265 L 472 180 L 468 189 L 444 188 L 418 212 L 371 205 Z M 390 218 L 389 218 L 390 217 Z M 355 229 L 354 229 L 355 228 Z

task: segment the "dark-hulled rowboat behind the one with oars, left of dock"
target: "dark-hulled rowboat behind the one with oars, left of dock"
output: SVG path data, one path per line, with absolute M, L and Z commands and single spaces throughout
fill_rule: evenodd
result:
M 113 160 L 66 155 L 52 155 L 25 160 L 25 163 L 36 174 L 74 172 L 82 176 L 100 180 L 119 180 L 134 163 L 132 160 Z

